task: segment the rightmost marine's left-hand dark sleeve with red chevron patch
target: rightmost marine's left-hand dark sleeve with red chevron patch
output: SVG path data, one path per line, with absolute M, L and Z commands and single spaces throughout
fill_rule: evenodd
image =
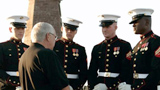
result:
M 122 50 L 122 62 L 121 62 L 121 72 L 120 80 L 121 82 L 129 83 L 130 77 L 129 73 L 131 72 L 131 45 L 129 43 L 124 44 Z

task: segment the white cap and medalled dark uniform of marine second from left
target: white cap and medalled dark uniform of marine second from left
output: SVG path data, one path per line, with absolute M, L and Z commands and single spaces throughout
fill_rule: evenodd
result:
M 70 30 L 77 30 L 79 23 L 79 21 L 72 18 L 63 20 L 64 27 Z M 70 86 L 74 90 L 81 90 L 87 80 L 85 47 L 75 43 L 73 40 L 66 40 L 62 37 L 56 41 L 54 51 L 60 58 Z

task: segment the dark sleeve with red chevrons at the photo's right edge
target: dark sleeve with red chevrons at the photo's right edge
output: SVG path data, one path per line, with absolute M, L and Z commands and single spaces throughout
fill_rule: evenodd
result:
M 160 39 L 155 39 L 151 44 L 151 70 L 147 78 L 144 80 L 145 85 L 142 89 L 151 90 L 150 86 L 157 86 L 160 81 Z

